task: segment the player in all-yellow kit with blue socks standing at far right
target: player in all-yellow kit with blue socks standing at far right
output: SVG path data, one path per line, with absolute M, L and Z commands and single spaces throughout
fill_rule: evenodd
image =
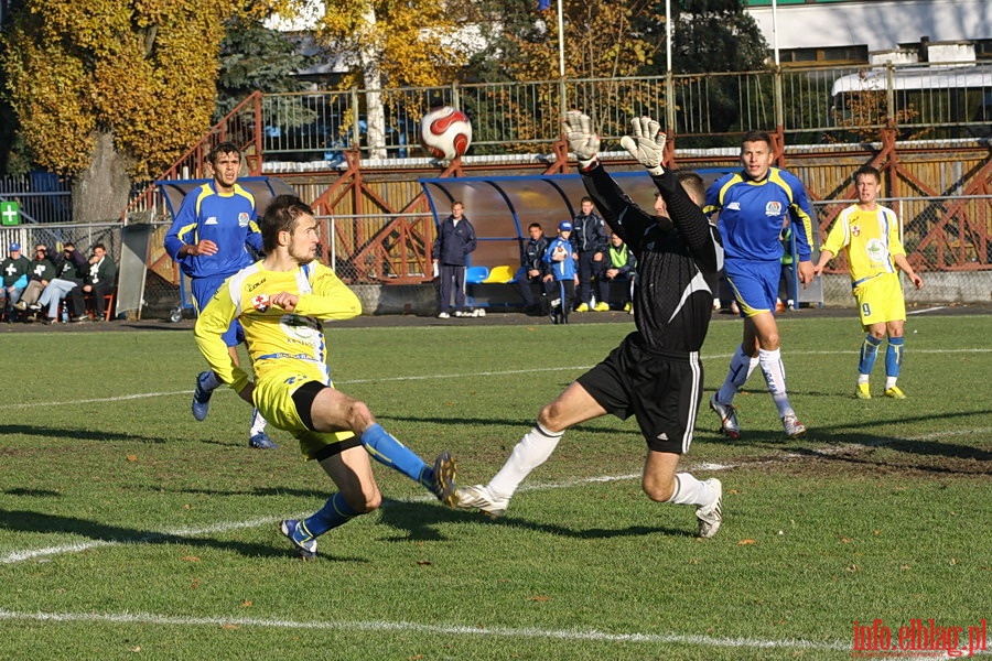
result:
M 861 345 L 854 395 L 871 399 L 869 376 L 875 366 L 878 347 L 887 335 L 883 392 L 885 397 L 905 399 L 906 395 L 896 386 L 903 364 L 903 326 L 906 322 L 906 303 L 898 270 L 906 273 L 916 289 L 923 288 L 923 279 L 906 259 L 895 212 L 877 203 L 881 187 L 882 175 L 877 170 L 871 165 L 858 169 L 854 173 L 858 203 L 837 217 L 827 241 L 820 248 L 820 259 L 813 267 L 813 273 L 820 275 L 827 262 L 843 251 L 861 325 L 867 332 Z

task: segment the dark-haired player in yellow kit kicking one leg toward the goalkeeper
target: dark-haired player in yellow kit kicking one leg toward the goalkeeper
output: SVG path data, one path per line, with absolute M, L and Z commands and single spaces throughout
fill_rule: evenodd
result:
M 201 312 L 195 336 L 220 380 L 272 425 L 291 432 L 304 457 L 320 462 L 339 489 L 312 517 L 282 521 L 282 534 L 309 560 L 316 555 L 317 537 L 378 508 L 382 496 L 369 455 L 454 506 L 451 455 L 443 452 L 428 466 L 387 433 L 364 402 L 331 383 L 323 322 L 355 317 L 362 304 L 334 271 L 315 261 L 313 212 L 299 197 L 280 195 L 260 226 L 265 259 L 220 285 Z M 234 319 L 245 328 L 255 381 L 235 364 L 224 342 Z

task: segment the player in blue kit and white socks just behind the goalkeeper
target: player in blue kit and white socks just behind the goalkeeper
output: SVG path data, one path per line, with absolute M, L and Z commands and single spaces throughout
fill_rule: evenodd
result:
M 726 252 L 726 279 L 744 317 L 744 339 L 731 358 L 723 386 L 710 399 L 710 408 L 720 416 L 721 431 L 731 438 L 741 436 L 734 395 L 757 366 L 765 376 L 786 436 L 799 438 L 806 434 L 806 425 L 799 422 L 786 393 L 775 303 L 781 275 L 783 220 L 789 216 L 796 235 L 799 281 L 804 285 L 813 278 L 810 256 L 815 221 L 802 183 L 773 167 L 774 159 L 768 133 L 746 133 L 741 142 L 744 169 L 716 180 L 707 191 L 703 209 L 709 216 L 718 214 L 716 225 Z

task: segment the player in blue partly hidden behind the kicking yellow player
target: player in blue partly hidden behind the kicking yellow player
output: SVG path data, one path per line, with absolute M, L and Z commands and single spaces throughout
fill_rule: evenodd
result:
M 255 196 L 238 185 L 241 153 L 230 142 L 222 142 L 208 156 L 214 181 L 186 194 L 165 235 L 165 251 L 190 277 L 193 301 L 203 311 L 220 284 L 255 261 L 248 248 L 262 251 Z M 231 358 L 238 361 L 237 346 L 245 340 L 241 325 L 235 321 L 224 334 Z M 214 371 L 200 372 L 193 392 L 193 416 L 206 419 L 211 394 L 220 387 Z M 252 412 L 248 445 L 276 449 L 266 434 L 266 419 Z

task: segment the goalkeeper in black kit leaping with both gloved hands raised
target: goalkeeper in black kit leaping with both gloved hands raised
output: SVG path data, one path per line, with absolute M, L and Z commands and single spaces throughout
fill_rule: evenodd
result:
M 658 122 L 639 117 L 632 127 L 621 144 L 650 173 L 658 188 L 656 215 L 624 195 L 600 164 L 600 138 L 590 118 L 571 110 L 564 119 L 585 189 L 637 258 L 637 329 L 541 410 L 487 485 L 457 489 L 459 507 L 502 517 L 520 483 L 551 456 L 565 430 L 606 413 L 622 420 L 634 415 L 648 446 L 644 492 L 657 502 L 694 506 L 699 537 L 711 538 L 723 519 L 720 480 L 702 481 L 676 469 L 689 451 L 702 399 L 699 350 L 710 325 L 723 246 L 702 213 L 705 188 L 699 175 L 662 167 L 666 137 Z

